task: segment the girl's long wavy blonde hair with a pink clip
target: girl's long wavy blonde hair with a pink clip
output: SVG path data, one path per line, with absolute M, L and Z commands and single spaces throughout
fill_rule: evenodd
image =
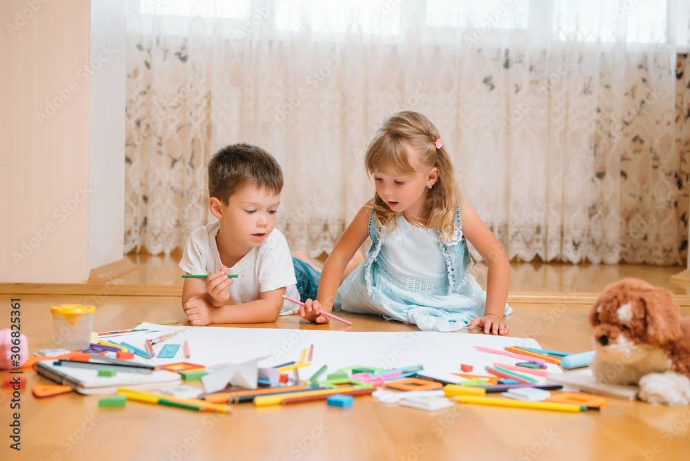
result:
M 364 163 L 370 177 L 374 170 L 388 167 L 403 174 L 419 173 L 412 168 L 408 152 L 419 155 L 420 164 L 425 170 L 437 167 L 438 180 L 426 196 L 426 210 L 429 213 L 426 227 L 438 230 L 443 239 L 449 240 L 453 235 L 455 210 L 462 202 L 460 186 L 453 175 L 448 152 L 443 146 L 436 148 L 435 141 L 439 138 L 438 130 L 424 115 L 409 110 L 397 112 L 377 131 L 366 150 Z M 373 206 L 374 219 L 383 232 L 393 230 L 397 213 L 377 193 Z

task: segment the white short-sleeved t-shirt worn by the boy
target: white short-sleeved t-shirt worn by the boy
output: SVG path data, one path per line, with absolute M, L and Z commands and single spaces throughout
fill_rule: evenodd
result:
M 210 274 L 220 271 L 220 254 L 215 237 L 220 223 L 215 221 L 201 226 L 189 235 L 184 245 L 179 267 L 190 274 Z M 230 300 L 233 304 L 256 301 L 266 291 L 286 287 L 285 294 L 299 300 L 295 266 L 290 255 L 288 242 L 282 232 L 273 229 L 264 242 L 252 248 L 235 266 L 228 268 L 229 274 L 242 277 L 233 279 L 230 285 Z M 291 311 L 295 304 L 283 303 L 281 311 Z

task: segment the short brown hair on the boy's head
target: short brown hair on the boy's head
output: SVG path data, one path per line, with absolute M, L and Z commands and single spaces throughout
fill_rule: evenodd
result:
M 278 195 L 283 189 L 283 171 L 266 150 L 251 144 L 231 144 L 219 150 L 208 163 L 208 196 L 228 204 L 230 196 L 247 185 Z

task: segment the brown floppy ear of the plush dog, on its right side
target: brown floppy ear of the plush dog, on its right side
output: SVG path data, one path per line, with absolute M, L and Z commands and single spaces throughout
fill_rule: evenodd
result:
M 673 294 L 654 287 L 640 295 L 647 315 L 647 336 L 655 344 L 666 344 L 680 337 L 680 308 Z

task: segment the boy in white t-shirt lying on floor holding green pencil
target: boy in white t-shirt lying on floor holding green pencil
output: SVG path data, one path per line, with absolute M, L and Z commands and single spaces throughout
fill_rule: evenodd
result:
M 291 257 L 274 228 L 282 188 L 282 170 L 262 148 L 233 144 L 211 159 L 208 206 L 218 221 L 190 234 L 179 263 L 186 273 L 208 274 L 182 286 L 182 308 L 193 326 L 275 322 L 281 310 L 295 307 L 282 295 L 316 297 L 321 274 Z

